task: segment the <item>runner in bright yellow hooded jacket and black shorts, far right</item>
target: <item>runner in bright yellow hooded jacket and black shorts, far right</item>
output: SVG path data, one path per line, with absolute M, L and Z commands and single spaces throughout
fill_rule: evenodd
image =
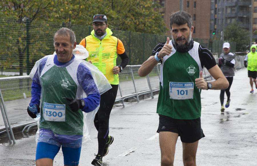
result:
M 248 62 L 248 64 L 246 64 L 246 62 Z M 252 88 L 250 93 L 254 93 L 253 82 L 255 83 L 255 88 L 257 89 L 257 53 L 255 45 L 251 46 L 251 52 L 246 55 L 244 59 L 244 66 L 247 67 L 248 77 L 250 78 L 250 85 Z

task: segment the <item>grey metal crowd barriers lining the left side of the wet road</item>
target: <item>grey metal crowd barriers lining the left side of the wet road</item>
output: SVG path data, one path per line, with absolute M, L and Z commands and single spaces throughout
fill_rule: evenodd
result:
M 217 59 L 216 59 L 217 60 Z M 236 69 L 244 67 L 244 57 L 236 57 Z M 116 102 L 122 103 L 125 107 L 125 99 L 134 98 L 139 102 L 139 96 L 149 94 L 152 98 L 153 93 L 159 91 L 160 64 L 156 65 L 151 73 L 146 77 L 138 76 L 138 69 L 141 65 L 127 65 L 119 73 L 119 89 Z M 212 80 L 211 75 L 204 68 L 203 76 L 205 80 Z M 29 131 L 35 126 L 36 121 L 27 115 L 27 107 L 31 100 L 31 78 L 26 76 L 13 76 L 0 78 L 0 135 L 7 133 L 10 144 L 11 139 L 15 143 L 12 129 L 23 127 L 23 131 Z M 5 130 L 4 130 L 5 129 Z

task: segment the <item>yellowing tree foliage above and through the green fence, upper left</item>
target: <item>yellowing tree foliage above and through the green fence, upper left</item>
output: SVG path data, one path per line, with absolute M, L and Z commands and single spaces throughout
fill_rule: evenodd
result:
M 0 35 L 4 43 L 1 42 L 3 51 L 0 55 L 5 59 L 1 64 L 5 68 L 18 66 L 20 75 L 23 75 L 24 66 L 29 66 L 26 58 L 27 18 L 30 21 L 29 63 L 33 65 L 48 53 L 45 50 L 53 49 L 53 43 L 49 41 L 62 22 L 69 28 L 83 25 L 88 32 L 95 14 L 105 14 L 112 30 L 165 34 L 167 29 L 159 7 L 159 1 L 149 0 L 2 0 Z M 86 35 L 85 31 L 75 33 Z

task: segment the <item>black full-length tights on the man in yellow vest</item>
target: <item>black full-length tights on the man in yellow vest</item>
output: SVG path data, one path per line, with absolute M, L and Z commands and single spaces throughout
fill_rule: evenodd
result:
M 95 128 L 98 131 L 98 155 L 103 156 L 105 144 L 109 135 L 109 118 L 116 99 L 118 85 L 111 85 L 112 89 L 101 95 L 100 107 L 95 115 Z

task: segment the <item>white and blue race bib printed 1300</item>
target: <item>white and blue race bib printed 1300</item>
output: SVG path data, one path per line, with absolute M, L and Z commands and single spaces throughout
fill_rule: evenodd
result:
M 44 102 L 43 117 L 46 121 L 65 122 L 65 104 Z

